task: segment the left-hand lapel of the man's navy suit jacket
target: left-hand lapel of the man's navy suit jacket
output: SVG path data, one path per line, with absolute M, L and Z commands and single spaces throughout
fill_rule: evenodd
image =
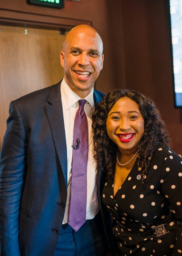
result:
M 50 105 L 46 107 L 46 111 L 51 127 L 52 137 L 54 139 L 59 162 L 62 167 L 63 176 L 67 187 L 67 147 L 60 84 L 61 81 L 55 86 L 52 86 L 48 96 L 48 102 Z

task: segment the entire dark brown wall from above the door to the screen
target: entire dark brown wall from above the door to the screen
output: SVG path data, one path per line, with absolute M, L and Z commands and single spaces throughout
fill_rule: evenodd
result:
M 182 111 L 173 107 L 167 0 L 64 0 L 64 5 L 55 10 L 26 0 L 1 1 L 0 22 L 68 29 L 92 25 L 103 38 L 105 55 L 96 87 L 103 92 L 132 88 L 151 97 L 166 122 L 172 148 L 182 153 Z

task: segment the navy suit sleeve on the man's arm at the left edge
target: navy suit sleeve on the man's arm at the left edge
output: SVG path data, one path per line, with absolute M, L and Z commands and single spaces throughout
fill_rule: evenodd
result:
M 27 138 L 15 101 L 9 107 L 7 130 L 0 153 L 1 256 L 20 256 L 19 211 L 23 178 L 27 171 Z

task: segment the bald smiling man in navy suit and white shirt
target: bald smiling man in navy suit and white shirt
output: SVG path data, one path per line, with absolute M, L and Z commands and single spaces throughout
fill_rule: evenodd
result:
M 102 178 L 91 136 L 92 112 L 103 97 L 93 88 L 104 60 L 100 35 L 87 25 L 75 27 L 66 35 L 60 60 L 64 78 L 59 83 L 10 104 L 0 154 L 1 256 L 107 255 L 105 232 L 110 244 L 111 218 L 100 211 Z M 86 100 L 88 123 L 87 194 L 86 219 L 75 230 L 69 212 L 80 99 Z

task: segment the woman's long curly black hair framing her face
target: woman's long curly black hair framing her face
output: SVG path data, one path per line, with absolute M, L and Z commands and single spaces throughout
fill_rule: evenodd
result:
M 107 93 L 98 103 L 92 116 L 92 131 L 94 142 L 94 158 L 97 166 L 106 172 L 106 180 L 114 177 L 117 146 L 107 135 L 106 120 L 108 113 L 122 97 L 128 97 L 139 105 L 139 110 L 145 121 L 144 133 L 138 144 L 137 167 L 141 172 L 142 184 L 149 169 L 154 151 L 159 147 L 168 146 L 170 139 L 165 131 L 164 122 L 151 99 L 134 90 L 114 90 Z

